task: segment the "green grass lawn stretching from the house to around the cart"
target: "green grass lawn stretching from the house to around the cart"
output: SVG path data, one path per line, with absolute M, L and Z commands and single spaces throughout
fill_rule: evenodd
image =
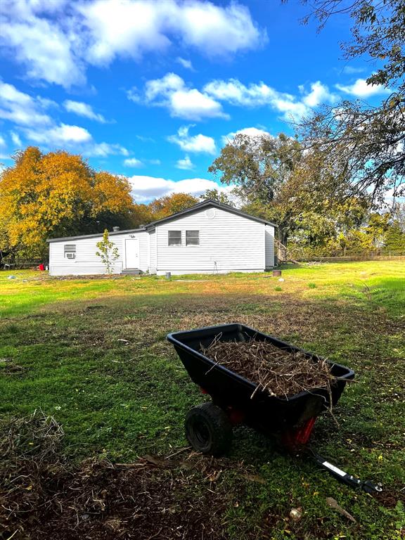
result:
M 65 431 L 63 452 L 75 463 L 170 454 L 186 445 L 186 411 L 206 398 L 165 336 L 247 323 L 354 369 L 356 383 L 335 409 L 339 427 L 328 414 L 319 418 L 311 446 L 393 495 L 372 499 L 307 459 L 284 454 L 271 439 L 237 428 L 228 465 L 210 484 L 227 494 L 226 537 L 399 540 L 405 530 L 405 262 L 286 266 L 283 279 L 58 279 L 1 271 L 1 417 L 38 408 L 53 415 Z M 240 477 L 240 463 L 264 483 Z M 357 523 L 328 508 L 328 496 Z M 294 523 L 288 514 L 297 507 L 303 517 Z

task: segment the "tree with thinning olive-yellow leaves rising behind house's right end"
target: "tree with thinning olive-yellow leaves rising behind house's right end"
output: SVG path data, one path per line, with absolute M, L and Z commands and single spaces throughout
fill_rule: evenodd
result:
M 322 243 L 343 223 L 364 214 L 366 198 L 346 198 L 349 178 L 339 162 L 328 166 L 329 156 L 280 134 L 252 138 L 238 134 L 221 150 L 210 172 L 221 182 L 235 184 L 243 210 L 278 225 L 278 240 L 307 236 L 307 243 Z M 325 165 L 325 166 L 323 166 Z

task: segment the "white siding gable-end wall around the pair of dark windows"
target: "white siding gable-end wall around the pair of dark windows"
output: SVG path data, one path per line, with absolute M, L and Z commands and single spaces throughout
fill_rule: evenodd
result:
M 210 209 L 212 212 L 212 209 Z M 199 210 L 156 226 L 158 274 L 264 271 L 264 224 L 226 210 Z M 200 231 L 200 245 L 186 246 L 186 231 Z M 168 245 L 168 231 L 182 231 L 182 245 Z

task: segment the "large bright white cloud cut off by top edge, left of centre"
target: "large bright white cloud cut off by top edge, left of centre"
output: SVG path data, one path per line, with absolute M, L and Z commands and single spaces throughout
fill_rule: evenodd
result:
M 165 51 L 172 41 L 207 56 L 228 56 L 266 39 L 248 8 L 236 2 L 222 7 L 200 0 L 94 0 L 78 11 L 89 34 L 89 60 L 96 64 Z

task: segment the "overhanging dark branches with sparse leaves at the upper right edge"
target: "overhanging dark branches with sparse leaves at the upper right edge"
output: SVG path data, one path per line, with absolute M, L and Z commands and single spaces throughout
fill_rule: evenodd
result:
M 366 80 L 387 90 L 379 106 L 343 101 L 324 106 L 299 127 L 307 148 L 328 150 L 332 163 L 344 160 L 352 191 L 368 191 L 383 202 L 385 192 L 404 193 L 405 181 L 405 3 L 404 0 L 302 0 L 304 19 L 326 25 L 333 16 L 352 19 L 352 40 L 342 44 L 348 60 L 364 57 L 377 69 Z M 314 142 L 316 141 L 316 142 Z

